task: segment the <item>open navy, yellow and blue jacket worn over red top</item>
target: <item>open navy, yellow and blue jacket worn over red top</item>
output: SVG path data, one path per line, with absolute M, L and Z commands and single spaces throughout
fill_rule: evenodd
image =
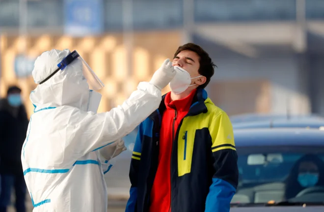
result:
M 159 109 L 139 125 L 126 212 L 149 211 L 164 97 Z M 205 90 L 197 89 L 188 114 L 179 124 L 170 166 L 171 212 L 229 212 L 238 184 L 233 128 Z

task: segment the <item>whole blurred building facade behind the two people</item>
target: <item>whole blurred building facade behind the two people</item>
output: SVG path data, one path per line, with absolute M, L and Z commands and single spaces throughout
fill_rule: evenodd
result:
M 18 82 L 28 99 L 33 58 L 76 49 L 106 111 L 191 41 L 217 64 L 207 90 L 228 114 L 324 115 L 323 0 L 0 0 L 0 29 L 1 95 Z

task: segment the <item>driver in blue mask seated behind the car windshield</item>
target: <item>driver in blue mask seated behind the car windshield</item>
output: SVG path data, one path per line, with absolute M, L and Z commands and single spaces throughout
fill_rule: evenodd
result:
M 306 154 L 293 166 L 287 179 L 285 199 L 296 195 L 310 187 L 324 186 L 324 162 L 314 154 Z

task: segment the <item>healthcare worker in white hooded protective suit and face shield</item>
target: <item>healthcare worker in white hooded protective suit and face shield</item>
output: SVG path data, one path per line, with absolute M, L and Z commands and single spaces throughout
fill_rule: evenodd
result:
M 109 161 L 126 149 L 120 139 L 159 107 L 174 75 L 165 60 L 121 106 L 96 114 L 101 95 L 89 89 L 103 84 L 81 56 L 69 50 L 39 56 L 32 71 L 39 85 L 30 94 L 35 113 L 21 157 L 33 212 L 106 212 Z

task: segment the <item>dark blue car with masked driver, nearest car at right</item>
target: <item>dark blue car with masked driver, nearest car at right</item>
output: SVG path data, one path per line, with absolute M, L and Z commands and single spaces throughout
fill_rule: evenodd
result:
M 324 130 L 243 129 L 234 136 L 240 176 L 231 212 L 324 211 Z

